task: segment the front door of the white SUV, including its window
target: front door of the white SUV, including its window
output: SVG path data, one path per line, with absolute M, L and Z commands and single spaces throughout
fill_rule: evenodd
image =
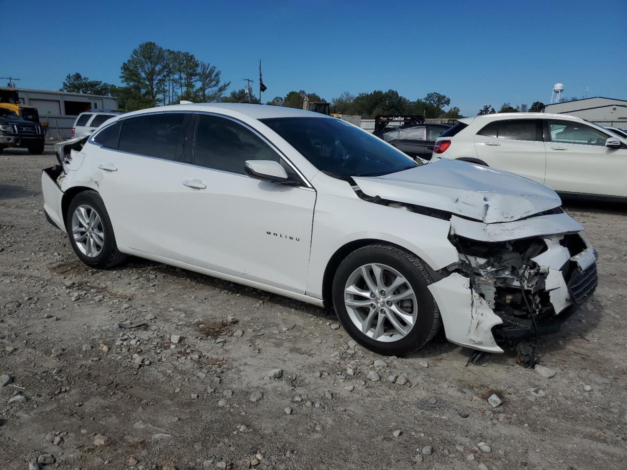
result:
M 627 196 L 627 146 L 605 147 L 609 133 L 581 122 L 545 120 L 546 185 L 556 191 Z

